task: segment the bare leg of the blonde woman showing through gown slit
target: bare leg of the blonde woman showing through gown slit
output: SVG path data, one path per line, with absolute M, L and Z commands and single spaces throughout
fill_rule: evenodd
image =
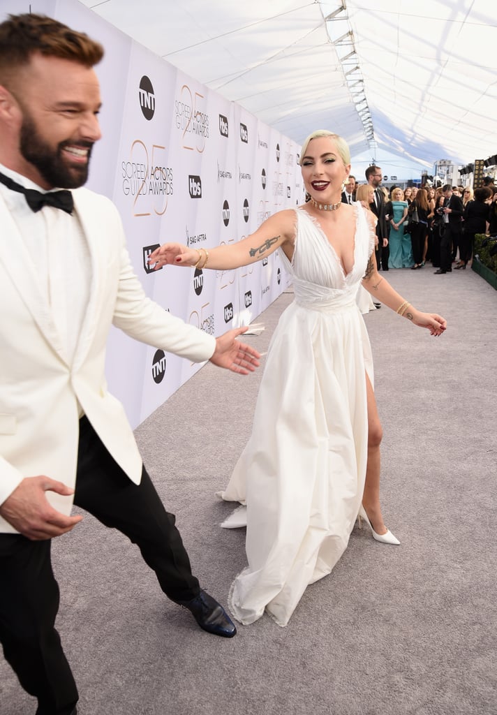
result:
M 366 466 L 366 481 L 364 485 L 363 507 L 369 521 L 377 534 L 387 533 L 380 506 L 380 444 L 383 429 L 376 406 L 373 385 L 366 375 L 366 392 L 368 395 L 368 465 Z

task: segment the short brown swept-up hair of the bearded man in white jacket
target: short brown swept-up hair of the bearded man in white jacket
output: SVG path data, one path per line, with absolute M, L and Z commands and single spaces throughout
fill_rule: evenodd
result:
M 0 83 L 8 84 L 36 53 L 92 67 L 104 56 L 104 48 L 84 32 L 46 15 L 9 15 L 0 24 Z

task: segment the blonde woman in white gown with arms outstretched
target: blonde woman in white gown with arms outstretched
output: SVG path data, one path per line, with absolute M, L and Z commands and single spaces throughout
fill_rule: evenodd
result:
M 295 300 L 272 336 L 252 435 L 222 493 L 247 505 L 248 566 L 229 599 L 245 624 L 267 611 L 286 626 L 307 585 L 345 551 L 360 510 L 375 538 L 398 543 L 380 509 L 381 425 L 356 304 L 361 282 L 432 335 L 446 328 L 443 317 L 415 310 L 378 275 L 370 212 L 340 201 L 350 172 L 345 141 L 325 130 L 311 134 L 300 165 L 310 201 L 277 212 L 234 245 L 209 249 L 208 265 L 205 250 L 179 244 L 150 257 L 157 268 L 231 270 L 280 249 L 292 275 Z

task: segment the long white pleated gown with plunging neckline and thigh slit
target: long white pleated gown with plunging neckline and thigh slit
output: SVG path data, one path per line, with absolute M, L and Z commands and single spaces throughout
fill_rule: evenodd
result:
M 267 611 L 286 626 L 306 586 L 345 551 L 358 515 L 368 449 L 365 371 L 373 381 L 373 364 L 356 294 L 374 235 L 360 204 L 355 212 L 348 275 L 302 209 L 291 264 L 282 253 L 295 300 L 270 342 L 252 435 L 220 492 L 247 505 L 223 523 L 246 518 L 248 566 L 229 596 L 240 623 Z

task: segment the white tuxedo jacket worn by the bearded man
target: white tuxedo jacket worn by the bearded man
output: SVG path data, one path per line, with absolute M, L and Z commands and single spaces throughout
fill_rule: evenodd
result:
M 114 204 L 87 189 L 72 193 L 89 245 L 92 285 L 71 364 L 38 287 L 36 257 L 25 250 L 0 195 L 0 504 L 24 477 L 46 475 L 74 487 L 78 402 L 117 463 L 139 483 L 142 459 L 132 428 L 104 376 L 111 323 L 195 362 L 215 350 L 212 336 L 144 295 Z M 70 513 L 71 497 L 46 495 L 58 511 Z M 0 517 L 0 532 L 15 530 Z

